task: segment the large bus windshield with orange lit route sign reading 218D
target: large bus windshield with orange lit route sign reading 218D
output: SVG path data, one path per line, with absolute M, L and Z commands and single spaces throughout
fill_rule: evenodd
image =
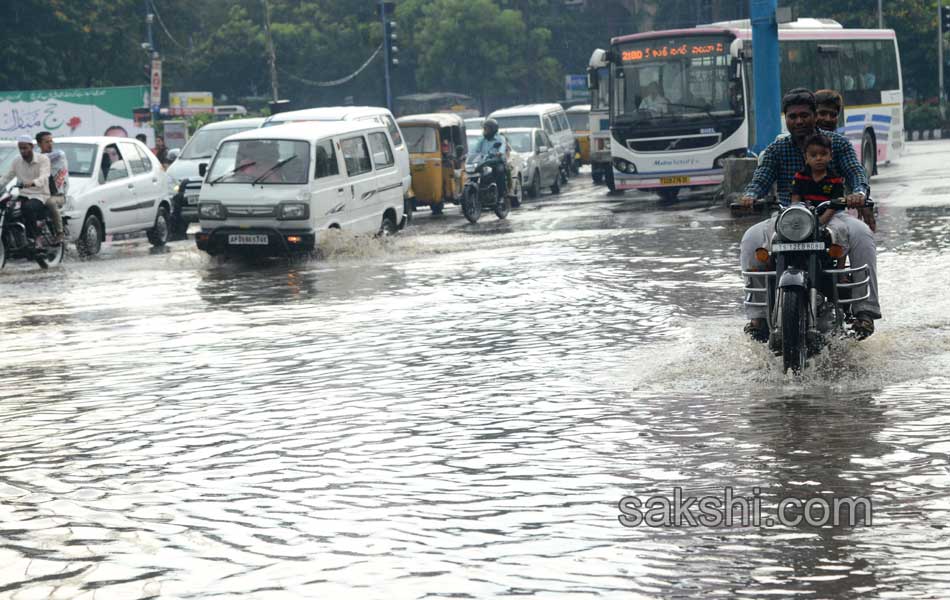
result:
M 618 44 L 614 117 L 640 122 L 741 115 L 730 42 L 727 36 L 678 36 Z

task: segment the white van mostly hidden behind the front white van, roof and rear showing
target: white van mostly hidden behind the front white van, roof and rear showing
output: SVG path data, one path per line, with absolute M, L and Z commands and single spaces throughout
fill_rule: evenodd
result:
M 281 123 L 306 123 L 309 121 L 374 121 L 383 124 L 389 131 L 396 152 L 396 166 L 402 173 L 403 199 L 405 209 L 400 215 L 400 229 L 412 218 L 412 171 L 409 169 L 409 149 L 402 139 L 402 132 L 393 114 L 379 106 L 327 106 L 292 110 L 271 115 L 264 120 L 262 127 L 272 127 Z

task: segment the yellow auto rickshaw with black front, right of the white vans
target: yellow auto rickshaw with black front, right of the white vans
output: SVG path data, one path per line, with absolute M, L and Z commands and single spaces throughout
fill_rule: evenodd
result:
M 465 122 L 452 113 L 408 115 L 397 120 L 409 148 L 413 209 L 429 206 L 439 215 L 446 202 L 458 204 L 465 185 L 468 140 Z

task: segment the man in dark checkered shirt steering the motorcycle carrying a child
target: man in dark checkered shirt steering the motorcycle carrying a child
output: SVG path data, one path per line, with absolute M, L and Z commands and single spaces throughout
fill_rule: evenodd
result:
M 764 197 L 773 183 L 778 187 L 778 200 L 783 206 L 790 203 L 790 189 L 796 172 L 805 167 L 805 141 L 816 133 L 817 103 L 815 95 L 804 88 L 789 91 L 782 98 L 782 113 L 788 136 L 772 142 L 762 153 L 762 157 L 752 181 L 746 188 L 740 203 L 751 208 L 756 198 Z M 851 142 L 842 135 L 826 132 L 831 140 L 832 165 L 835 171 L 845 178 L 851 193 L 845 196 L 849 207 L 860 208 L 868 196 L 867 174 L 858 161 Z M 750 227 L 742 236 L 740 245 L 740 264 L 743 271 L 764 271 L 766 266 L 755 257 L 757 248 L 768 246 L 774 231 L 774 218 L 766 219 Z M 866 300 L 853 305 L 856 320 L 852 325 L 854 332 L 861 338 L 874 333 L 874 321 L 881 318 L 877 288 L 877 250 L 871 230 L 858 219 L 844 211 L 836 214 L 829 227 L 838 237 L 838 243 L 844 246 L 853 266 L 868 266 L 869 292 Z M 766 341 L 769 331 L 765 320 L 766 309 L 759 306 L 746 306 L 749 323 L 745 332 L 758 341 Z

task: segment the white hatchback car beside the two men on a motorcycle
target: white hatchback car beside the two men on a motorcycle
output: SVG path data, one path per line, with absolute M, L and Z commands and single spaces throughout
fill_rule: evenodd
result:
M 145 144 L 132 138 L 70 137 L 54 147 L 66 153 L 69 163 L 62 214 L 80 255 L 98 253 L 107 236 L 144 232 L 154 246 L 168 241 L 170 179 Z

